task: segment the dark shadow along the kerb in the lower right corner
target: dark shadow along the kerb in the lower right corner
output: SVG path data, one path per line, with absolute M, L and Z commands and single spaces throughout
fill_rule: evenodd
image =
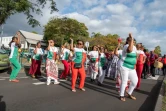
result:
M 151 92 L 147 93 L 144 91 L 140 91 L 140 93 L 148 94 L 149 96 L 147 97 L 147 99 L 145 100 L 145 102 L 142 104 L 142 106 L 140 107 L 138 111 L 154 111 L 158 94 L 160 92 L 161 84 L 162 84 L 162 80 L 158 80 L 157 84 L 153 87 Z

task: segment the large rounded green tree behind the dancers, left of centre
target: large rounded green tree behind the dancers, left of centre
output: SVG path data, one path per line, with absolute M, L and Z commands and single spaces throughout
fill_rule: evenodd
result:
M 53 17 L 44 26 L 44 40 L 56 40 L 57 46 L 69 42 L 70 38 L 76 41 L 77 39 L 86 40 L 88 37 L 88 28 L 75 19 Z

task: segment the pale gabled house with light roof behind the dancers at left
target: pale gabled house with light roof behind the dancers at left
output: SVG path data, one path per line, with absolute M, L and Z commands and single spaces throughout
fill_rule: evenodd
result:
M 19 30 L 21 37 L 20 37 L 20 43 L 21 48 L 28 49 L 30 47 L 35 47 L 37 42 L 41 42 L 42 46 L 46 46 L 46 44 L 43 42 L 43 35 L 35 34 L 23 30 Z M 15 35 L 17 37 L 17 34 Z

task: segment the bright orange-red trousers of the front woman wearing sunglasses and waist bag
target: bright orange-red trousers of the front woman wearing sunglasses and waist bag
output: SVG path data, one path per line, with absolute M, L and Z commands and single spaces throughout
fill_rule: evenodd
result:
M 79 88 L 82 89 L 84 88 L 84 83 L 85 83 L 85 69 L 84 69 L 84 64 L 82 64 L 82 68 L 80 69 L 76 69 L 74 68 L 74 62 L 71 63 L 71 68 L 72 68 L 72 89 L 75 89 L 75 85 L 76 85 L 76 80 L 77 80 L 77 76 L 79 74 L 80 77 L 80 85 Z

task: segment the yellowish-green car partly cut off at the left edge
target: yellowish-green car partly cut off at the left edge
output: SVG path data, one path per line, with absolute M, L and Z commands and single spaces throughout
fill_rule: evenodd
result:
M 8 69 L 10 67 L 8 52 L 0 49 L 0 70 Z

